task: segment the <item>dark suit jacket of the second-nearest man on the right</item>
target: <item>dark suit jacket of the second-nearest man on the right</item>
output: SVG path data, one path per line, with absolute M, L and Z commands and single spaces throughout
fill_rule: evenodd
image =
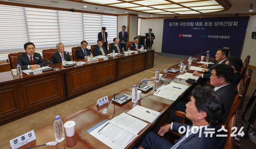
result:
M 221 122 L 221 123 L 224 123 L 224 121 L 226 120 L 230 112 L 230 108 L 233 104 L 237 91 L 232 84 L 228 84 L 224 87 L 219 88 L 215 92 L 218 93 L 224 100 L 225 114 L 223 115 L 222 122 Z

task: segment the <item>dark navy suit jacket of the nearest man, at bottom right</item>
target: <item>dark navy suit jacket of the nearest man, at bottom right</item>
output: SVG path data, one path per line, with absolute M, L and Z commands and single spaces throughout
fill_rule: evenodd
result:
M 173 131 L 178 132 L 179 127 L 184 126 L 187 129 L 187 126 L 192 127 L 192 125 L 173 123 Z M 224 131 L 218 132 L 221 129 L 221 125 L 217 126 L 209 125 L 207 128 L 214 128 L 215 133 L 210 137 L 210 134 L 206 137 L 204 132 L 209 132 L 205 130 L 205 127 L 202 128 L 201 137 L 199 137 L 200 131 L 196 134 L 190 134 L 176 149 L 223 149 L 226 141 L 226 137 L 217 137 L 217 134 L 224 134 Z M 186 134 L 187 131 L 184 132 Z M 185 137 L 185 136 L 183 136 Z M 177 142 L 179 142 L 183 137 L 181 137 Z

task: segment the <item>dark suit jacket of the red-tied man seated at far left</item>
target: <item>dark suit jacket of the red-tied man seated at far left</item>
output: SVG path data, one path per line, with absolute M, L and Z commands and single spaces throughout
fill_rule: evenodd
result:
M 27 70 L 27 65 L 31 65 L 30 58 L 28 58 L 26 53 L 23 53 L 22 55 L 18 56 L 18 60 L 16 62 L 16 67 L 17 67 L 17 64 L 19 64 L 21 66 L 22 70 Z M 34 64 L 37 64 L 37 65 L 40 65 L 40 67 L 43 67 L 46 65 L 46 62 L 44 61 L 44 59 L 41 57 L 41 55 L 39 53 L 34 53 L 33 65 Z

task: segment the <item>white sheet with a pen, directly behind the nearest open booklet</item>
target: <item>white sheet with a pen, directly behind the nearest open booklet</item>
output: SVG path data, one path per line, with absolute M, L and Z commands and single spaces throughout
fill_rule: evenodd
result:
M 147 111 L 150 113 L 148 113 Z M 128 111 L 128 114 L 131 114 L 132 116 L 136 116 L 142 120 L 146 120 L 150 123 L 153 123 L 154 120 L 156 120 L 161 115 L 160 112 L 157 112 L 139 105 L 136 105 L 134 108 Z

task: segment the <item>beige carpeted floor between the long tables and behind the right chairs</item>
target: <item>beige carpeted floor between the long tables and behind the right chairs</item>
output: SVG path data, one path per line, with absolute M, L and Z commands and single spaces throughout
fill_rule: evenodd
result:
M 9 143 L 9 140 L 11 140 L 15 137 L 18 137 L 21 134 L 24 134 L 31 130 L 36 131 L 48 124 L 53 123 L 55 120 L 54 117 L 56 115 L 60 115 L 60 118 L 63 118 L 72 113 L 75 113 L 76 111 L 79 111 L 89 105 L 95 104 L 99 98 L 102 98 L 106 95 L 110 96 L 118 91 L 122 91 L 122 90 L 126 89 L 127 87 L 130 87 L 130 86 L 140 82 L 140 80 L 142 80 L 144 78 L 149 78 L 151 76 L 154 76 L 156 69 L 159 69 L 159 71 L 161 72 L 164 69 L 169 68 L 170 66 L 181 62 L 182 60 L 184 60 L 184 59 L 159 56 L 159 55 L 155 54 L 154 55 L 154 68 L 145 70 L 136 75 L 130 76 L 128 78 L 125 78 L 125 79 L 115 82 L 113 84 L 109 84 L 105 87 L 99 88 L 95 91 L 91 91 L 90 93 L 87 93 L 87 94 L 84 94 L 77 98 L 74 98 L 70 101 L 61 103 L 59 105 L 55 105 L 51 108 L 42 110 L 38 113 L 34 113 L 30 116 L 26 116 L 22 119 L 16 120 L 16 121 L 11 122 L 6 125 L 3 125 L 0 127 L 0 140 L 1 140 L 0 147 L 7 145 Z M 253 71 L 252 80 L 248 87 L 248 91 L 246 94 L 242 112 L 245 111 L 245 106 L 247 105 L 249 99 L 251 98 L 251 96 L 256 88 L 255 87 L 256 70 L 253 69 L 252 71 Z M 101 93 L 101 94 L 98 94 L 98 93 Z M 255 102 L 253 103 L 253 105 L 255 104 Z M 248 112 L 245 116 L 246 120 L 248 120 L 248 117 L 250 116 L 252 108 L 248 110 Z M 243 131 L 245 131 L 247 128 L 247 125 L 246 124 L 243 124 L 243 125 L 245 126 Z M 253 126 L 256 127 L 256 124 L 254 124 Z M 250 128 L 249 132 L 252 132 L 251 128 Z M 252 149 L 252 148 L 255 148 L 255 143 L 253 143 L 249 138 L 247 138 L 247 139 L 242 138 L 241 149 Z

